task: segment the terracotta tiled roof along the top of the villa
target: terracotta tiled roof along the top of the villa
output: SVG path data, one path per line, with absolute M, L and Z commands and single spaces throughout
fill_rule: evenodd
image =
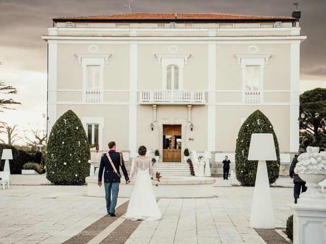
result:
M 128 13 L 79 17 L 60 17 L 53 19 L 53 21 L 56 22 L 62 22 L 66 20 L 294 20 L 294 18 L 286 16 L 259 16 L 221 13 Z

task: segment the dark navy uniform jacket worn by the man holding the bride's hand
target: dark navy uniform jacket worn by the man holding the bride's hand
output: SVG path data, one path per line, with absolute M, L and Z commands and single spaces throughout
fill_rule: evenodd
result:
M 117 153 L 115 150 L 110 150 L 110 151 L 108 151 L 108 154 L 110 155 L 110 158 L 112 159 L 112 162 L 113 162 L 114 166 L 116 167 L 117 172 L 120 173 L 120 167 L 121 167 L 124 178 L 126 181 L 128 181 L 129 180 L 128 172 L 124 165 L 123 158 L 122 158 L 122 165 L 120 165 L 120 157 L 121 156 L 119 153 Z M 102 181 L 103 172 L 104 172 L 104 183 L 105 182 L 112 182 L 112 183 L 119 182 L 120 183 L 120 177 L 114 172 L 114 169 L 113 169 L 110 161 L 108 161 L 106 154 L 102 154 L 102 157 L 101 157 L 100 167 L 98 170 L 98 181 Z

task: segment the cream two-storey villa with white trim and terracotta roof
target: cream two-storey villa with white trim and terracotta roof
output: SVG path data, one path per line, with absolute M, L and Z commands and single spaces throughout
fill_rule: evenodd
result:
M 73 110 L 91 144 L 107 150 L 183 150 L 234 162 L 241 123 L 271 121 L 281 161 L 299 145 L 301 36 L 294 17 L 132 13 L 53 19 L 48 43 L 48 135 Z M 296 17 L 296 18 L 295 18 Z M 217 171 L 213 170 L 212 173 Z

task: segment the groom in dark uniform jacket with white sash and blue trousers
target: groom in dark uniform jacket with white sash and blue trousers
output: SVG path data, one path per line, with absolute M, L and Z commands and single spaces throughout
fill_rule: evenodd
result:
M 109 151 L 107 154 L 102 154 L 101 163 L 98 170 L 98 182 L 97 185 L 102 186 L 102 174 L 104 170 L 104 189 L 106 200 L 107 214 L 115 217 L 115 208 L 118 200 L 119 184 L 120 184 L 120 170 L 121 166 L 126 184 L 130 182 L 122 153 L 116 152 L 116 143 L 111 141 L 108 143 Z M 111 161 L 111 162 L 110 162 Z M 112 191 L 112 199 L 111 199 Z

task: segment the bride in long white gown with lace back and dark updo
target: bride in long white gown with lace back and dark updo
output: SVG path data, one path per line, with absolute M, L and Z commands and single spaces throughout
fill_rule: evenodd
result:
M 138 154 L 140 157 L 135 159 L 134 167 L 130 179 L 136 175 L 133 184 L 130 201 L 126 214 L 123 216 L 127 220 L 147 220 L 154 221 L 161 219 L 161 213 L 156 203 L 156 197 L 152 186 L 151 176 L 155 181 L 152 159 L 146 157 L 146 147 L 140 146 Z M 151 173 L 151 176 L 149 174 Z

